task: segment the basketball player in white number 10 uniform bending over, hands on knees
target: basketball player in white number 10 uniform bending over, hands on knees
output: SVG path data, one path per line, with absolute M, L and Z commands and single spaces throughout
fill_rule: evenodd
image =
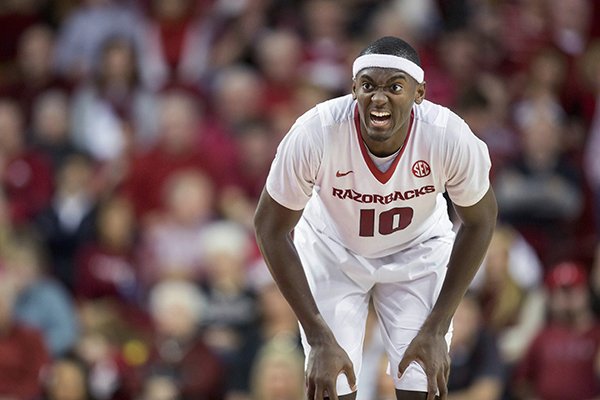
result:
M 425 100 L 403 40 L 373 42 L 352 72 L 351 95 L 306 112 L 280 143 L 257 240 L 302 328 L 309 399 L 355 398 L 370 299 L 397 398 L 445 399 L 452 316 L 495 226 L 488 151 Z

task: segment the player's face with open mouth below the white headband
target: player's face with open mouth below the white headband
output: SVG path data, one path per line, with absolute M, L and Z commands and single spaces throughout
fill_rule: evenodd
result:
M 397 69 L 365 68 L 352 83 L 361 133 L 376 155 L 397 151 L 406 137 L 413 104 L 425 97 L 425 83 Z

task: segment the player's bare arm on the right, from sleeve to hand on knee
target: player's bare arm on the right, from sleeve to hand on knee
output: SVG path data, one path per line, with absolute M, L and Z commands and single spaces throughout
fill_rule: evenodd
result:
M 427 400 L 433 400 L 438 390 L 440 398 L 447 399 L 450 358 L 444 337 L 458 304 L 485 256 L 498 213 L 491 187 L 476 204 L 470 207 L 455 205 L 454 208 L 462 225 L 452 248 L 440 295 L 398 366 L 399 375 L 412 361 L 423 367 L 428 382 Z

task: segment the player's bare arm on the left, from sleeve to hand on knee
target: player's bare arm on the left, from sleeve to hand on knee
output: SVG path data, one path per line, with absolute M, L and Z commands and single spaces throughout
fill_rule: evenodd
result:
M 301 215 L 302 210 L 280 205 L 264 190 L 254 216 L 256 238 L 279 290 L 298 317 L 311 346 L 306 371 L 309 398 L 323 399 L 327 393 L 331 400 L 337 400 L 337 376 L 345 373 L 351 387 L 356 378 L 350 358 L 317 308 L 292 242 L 291 232 Z

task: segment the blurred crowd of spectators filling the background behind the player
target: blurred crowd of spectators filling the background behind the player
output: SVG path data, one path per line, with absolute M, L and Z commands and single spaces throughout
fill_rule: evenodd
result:
M 0 398 L 303 399 L 253 212 L 384 35 L 493 160 L 449 398 L 600 399 L 594 0 L 0 1 Z M 394 398 L 374 325 L 359 400 Z

